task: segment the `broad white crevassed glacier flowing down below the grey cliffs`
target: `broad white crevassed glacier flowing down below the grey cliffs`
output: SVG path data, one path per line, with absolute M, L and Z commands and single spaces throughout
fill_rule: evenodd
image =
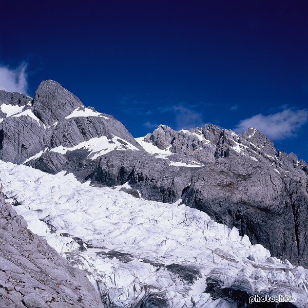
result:
M 86 269 L 109 304 L 134 306 L 158 293 L 170 307 L 228 307 L 206 291 L 218 277 L 223 287 L 307 302 L 305 269 L 271 258 L 199 210 L 90 187 L 65 171 L 52 176 L 2 161 L 0 170 L 7 201 L 21 203 L 14 209 L 29 228 Z

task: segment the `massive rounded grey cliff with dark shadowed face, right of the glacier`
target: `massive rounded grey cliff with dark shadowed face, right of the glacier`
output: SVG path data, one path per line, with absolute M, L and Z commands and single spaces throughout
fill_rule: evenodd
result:
M 192 177 L 184 203 L 236 226 L 279 259 L 307 266 L 308 181 L 303 170 L 289 174 L 250 159 L 218 159 Z

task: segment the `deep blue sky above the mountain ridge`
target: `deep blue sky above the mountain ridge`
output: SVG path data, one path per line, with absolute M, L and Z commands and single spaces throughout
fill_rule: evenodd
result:
M 254 126 L 308 162 L 306 0 L 0 0 L 0 65 L 30 95 L 60 82 L 134 137 Z

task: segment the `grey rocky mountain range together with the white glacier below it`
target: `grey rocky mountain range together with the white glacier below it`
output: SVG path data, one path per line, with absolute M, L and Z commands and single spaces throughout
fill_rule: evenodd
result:
M 306 303 L 308 167 L 260 131 L 160 125 L 134 139 L 50 80 L 33 99 L 0 91 L 0 117 L 6 201 L 105 306 L 244 306 L 286 291 Z

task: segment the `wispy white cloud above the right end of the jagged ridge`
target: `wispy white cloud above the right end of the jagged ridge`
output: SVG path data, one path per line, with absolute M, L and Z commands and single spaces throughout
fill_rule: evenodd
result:
M 285 109 L 282 112 L 263 115 L 256 114 L 252 118 L 240 121 L 234 129 L 242 133 L 249 127 L 254 127 L 265 134 L 269 139 L 281 140 L 295 136 L 296 131 L 307 123 L 308 111 Z

